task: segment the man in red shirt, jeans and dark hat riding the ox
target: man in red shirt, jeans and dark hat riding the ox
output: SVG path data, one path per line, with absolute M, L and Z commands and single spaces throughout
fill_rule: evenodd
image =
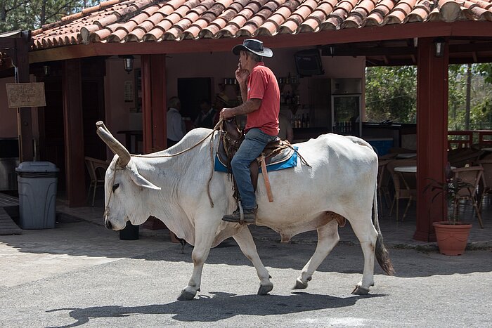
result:
M 238 208 L 232 215 L 226 215 L 222 220 L 254 223 L 257 202 L 250 176 L 250 164 L 259 157 L 267 143 L 277 138 L 280 89 L 273 72 L 261 61 L 261 57 L 273 55 L 271 49 L 264 47 L 261 41 L 247 39 L 235 46 L 233 53 L 239 55 L 235 78 L 239 82 L 243 103 L 238 107 L 223 108 L 220 117 L 230 119 L 237 115 L 247 114 L 245 140 L 231 162 L 233 175 L 238 185 L 239 206 L 242 206 L 244 218 L 241 220 Z

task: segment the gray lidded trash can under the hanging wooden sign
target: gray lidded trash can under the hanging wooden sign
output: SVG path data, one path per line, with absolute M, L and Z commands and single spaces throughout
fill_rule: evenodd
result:
M 55 228 L 58 169 L 50 162 L 22 162 L 15 169 L 22 229 Z

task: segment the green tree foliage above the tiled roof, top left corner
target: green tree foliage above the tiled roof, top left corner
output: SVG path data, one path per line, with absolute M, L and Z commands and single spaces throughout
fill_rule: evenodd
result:
M 98 0 L 2 0 L 0 32 L 38 29 L 98 3 Z

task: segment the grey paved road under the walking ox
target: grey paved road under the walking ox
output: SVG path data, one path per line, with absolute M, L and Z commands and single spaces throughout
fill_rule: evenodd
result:
M 212 249 L 202 291 L 176 301 L 193 264 L 191 247 L 162 238 L 119 240 L 85 221 L 0 236 L 1 327 L 492 327 L 492 252 L 443 256 L 390 249 L 396 277 L 377 268 L 368 296 L 360 247 L 339 244 L 294 291 L 314 244 L 257 242 L 272 275 L 257 296 L 254 268 L 232 240 Z

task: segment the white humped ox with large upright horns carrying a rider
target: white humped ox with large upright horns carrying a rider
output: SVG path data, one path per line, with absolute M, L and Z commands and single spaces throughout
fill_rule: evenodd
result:
M 105 226 L 121 230 L 127 221 L 139 225 L 155 216 L 179 238 L 194 245 L 193 275 L 179 300 L 193 299 L 200 291 L 202 268 L 210 248 L 228 237 L 235 239 L 256 268 L 260 280 L 258 294 L 267 294 L 273 283 L 247 225 L 221 220 L 236 207 L 226 173 L 214 172 L 209 183 L 213 207 L 209 201 L 207 183 L 213 169 L 210 138 L 193 147 L 209 133 L 209 129 L 194 129 L 168 150 L 136 157 L 129 155 L 104 124 L 98 122 L 98 135 L 117 154 L 105 176 Z M 217 133 L 213 140 L 215 148 Z M 257 225 L 276 230 L 283 241 L 300 232 L 318 230 L 316 251 L 294 287 L 303 289 L 339 241 L 337 221 L 332 220 L 329 212 L 344 216 L 358 237 L 364 256 L 363 277 L 353 294 L 367 294 L 374 284 L 375 255 L 386 273 L 394 273 L 377 219 L 377 155 L 364 140 L 331 133 L 297 146 L 310 166 L 299 161 L 295 168 L 268 173 L 273 202 L 268 202 L 259 178 Z M 193 149 L 181 155 L 165 157 L 190 147 Z M 374 225 L 371 209 L 375 214 Z

